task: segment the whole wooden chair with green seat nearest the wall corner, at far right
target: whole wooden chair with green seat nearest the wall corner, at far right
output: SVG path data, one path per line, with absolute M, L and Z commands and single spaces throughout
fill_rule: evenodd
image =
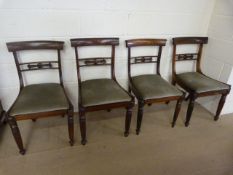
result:
M 214 80 L 203 74 L 201 70 L 201 55 L 203 45 L 207 44 L 207 37 L 178 37 L 173 38 L 173 59 L 172 59 L 172 79 L 173 84 L 176 83 L 186 90 L 189 95 L 188 110 L 186 114 L 185 126 L 189 125 L 191 115 L 193 112 L 194 102 L 198 97 L 205 97 L 211 95 L 221 94 L 218 109 L 214 120 L 217 121 L 227 94 L 230 92 L 231 86 L 217 80 Z M 177 54 L 177 46 L 179 45 L 198 45 L 197 53 L 179 53 Z M 196 61 L 196 71 L 186 73 L 176 73 L 176 62 L 178 61 Z

